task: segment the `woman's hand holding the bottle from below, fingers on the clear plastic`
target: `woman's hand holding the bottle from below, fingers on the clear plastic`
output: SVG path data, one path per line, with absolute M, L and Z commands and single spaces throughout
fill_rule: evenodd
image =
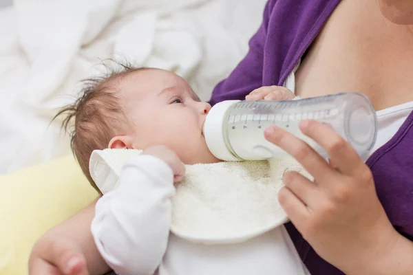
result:
M 326 261 L 346 274 L 379 274 L 366 268 L 394 252 L 401 235 L 381 206 L 370 169 L 330 127 L 306 120 L 300 129 L 326 149 L 330 163 L 295 135 L 268 127 L 266 139 L 295 157 L 315 179 L 286 173 L 279 202 Z

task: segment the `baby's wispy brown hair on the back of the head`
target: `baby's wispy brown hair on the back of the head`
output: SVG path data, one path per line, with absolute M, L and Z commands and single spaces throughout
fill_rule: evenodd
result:
M 112 137 L 123 130 L 127 121 L 116 91 L 120 78 L 146 69 L 130 63 L 114 61 L 116 66 L 103 63 L 107 73 L 82 80 L 83 88 L 77 100 L 63 107 L 53 118 L 63 115 L 62 128 L 70 133 L 70 146 L 90 184 L 100 192 L 89 173 L 89 159 L 94 150 L 107 148 Z M 74 126 L 72 122 L 74 120 Z

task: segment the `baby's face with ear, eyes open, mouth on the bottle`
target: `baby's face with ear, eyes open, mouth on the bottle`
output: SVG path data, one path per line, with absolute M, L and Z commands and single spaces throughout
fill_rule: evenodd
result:
M 121 78 L 119 85 L 116 96 L 129 127 L 124 135 L 112 140 L 111 148 L 164 145 L 175 151 L 184 164 L 218 162 L 202 133 L 211 106 L 201 102 L 180 76 L 161 69 L 145 69 Z

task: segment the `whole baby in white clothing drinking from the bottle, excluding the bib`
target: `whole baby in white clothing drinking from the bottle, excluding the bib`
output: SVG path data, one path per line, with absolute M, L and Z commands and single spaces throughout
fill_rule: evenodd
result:
M 283 87 L 262 87 L 246 99 L 293 97 Z M 59 113 L 68 113 L 66 126 L 75 119 L 72 149 L 95 188 L 92 151 L 143 149 L 125 164 L 118 188 L 96 204 L 92 235 L 100 254 L 122 275 L 308 274 L 284 227 L 231 245 L 191 243 L 169 232 L 169 198 L 183 164 L 220 162 L 202 134 L 209 109 L 176 74 L 125 66 L 89 80 L 83 96 Z

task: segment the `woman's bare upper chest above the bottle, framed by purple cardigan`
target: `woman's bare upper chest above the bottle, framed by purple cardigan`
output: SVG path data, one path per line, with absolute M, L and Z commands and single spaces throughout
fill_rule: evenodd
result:
M 305 98 L 360 91 L 376 109 L 413 100 L 413 32 L 386 21 L 374 0 L 344 0 L 296 74 Z

